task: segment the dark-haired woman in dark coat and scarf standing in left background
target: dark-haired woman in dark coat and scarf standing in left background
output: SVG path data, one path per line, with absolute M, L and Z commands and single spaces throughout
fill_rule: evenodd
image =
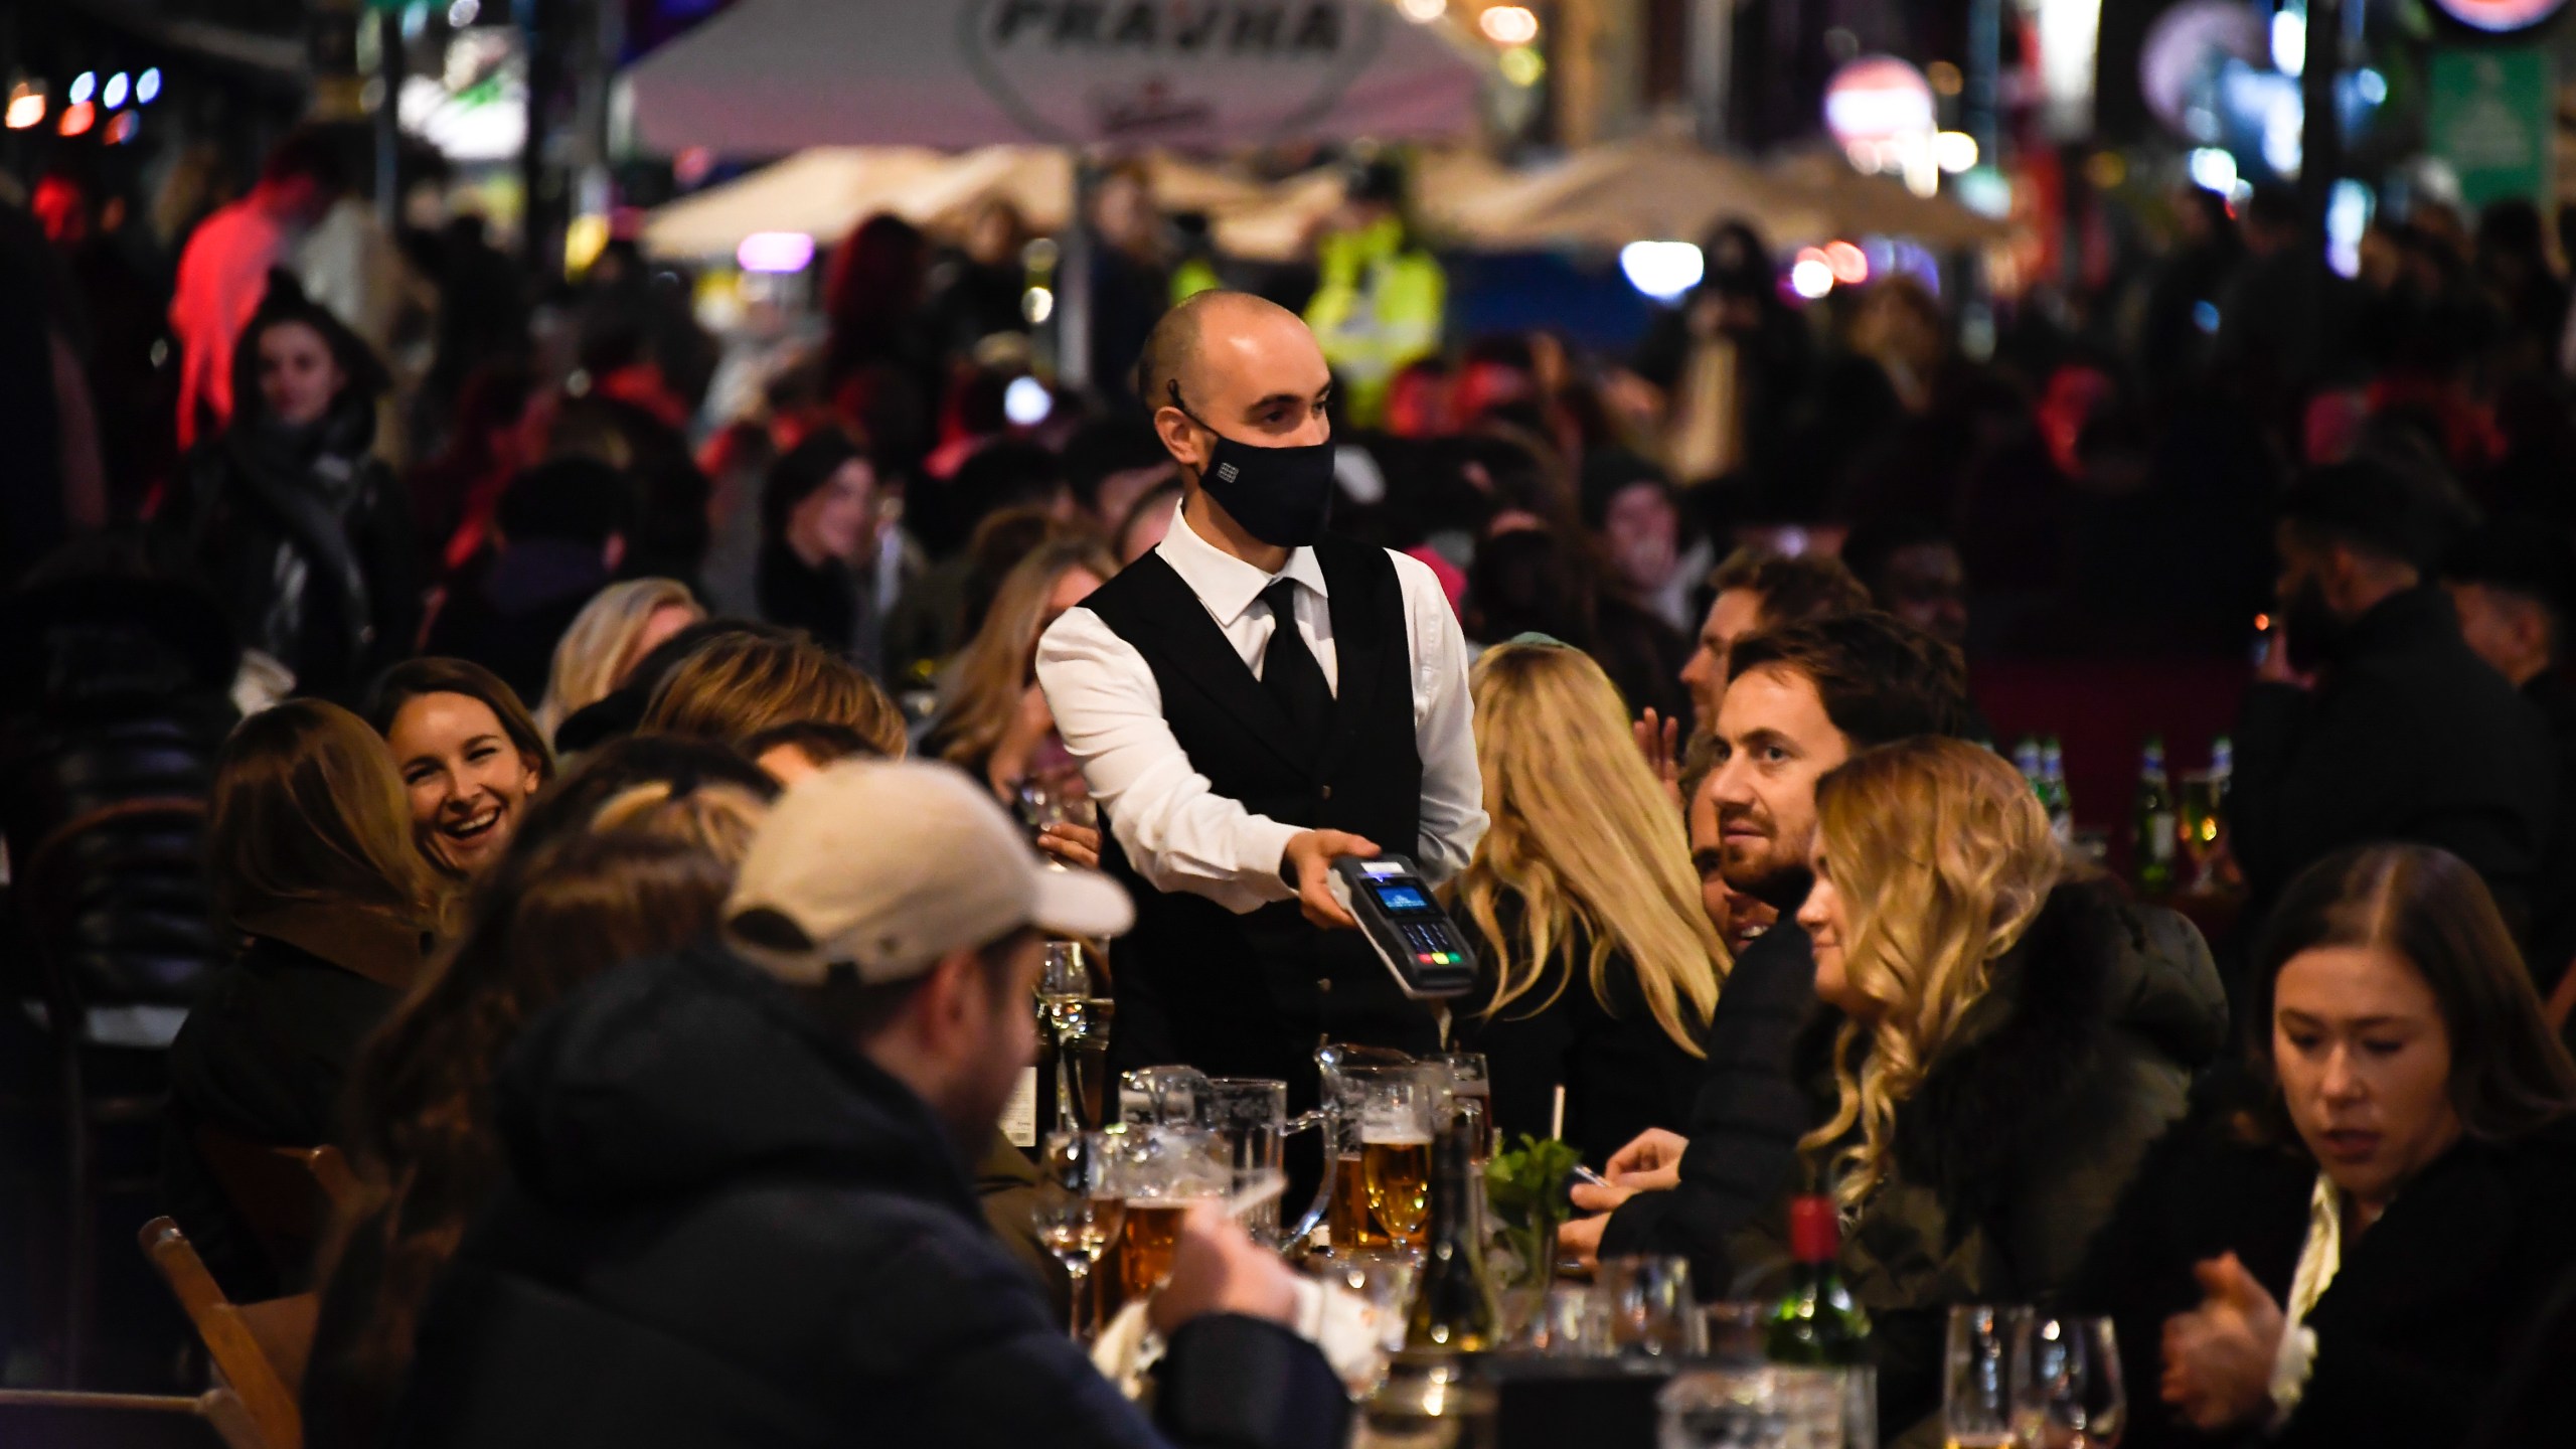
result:
M 368 451 L 384 369 L 283 273 L 232 358 L 232 425 L 188 454 L 152 529 L 296 691 L 353 696 L 420 629 L 410 500 Z

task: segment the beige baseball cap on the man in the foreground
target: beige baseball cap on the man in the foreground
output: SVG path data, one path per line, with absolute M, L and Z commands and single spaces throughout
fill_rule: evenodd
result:
M 842 761 L 778 797 L 724 902 L 729 944 L 817 985 L 835 964 L 894 982 L 1023 926 L 1115 936 L 1136 920 L 1100 871 L 1048 869 L 953 766 Z

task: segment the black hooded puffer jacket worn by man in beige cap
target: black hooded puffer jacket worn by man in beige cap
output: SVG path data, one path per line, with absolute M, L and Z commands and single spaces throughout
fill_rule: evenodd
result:
M 538 1018 L 500 1129 L 513 1183 L 422 1323 L 402 1449 L 1342 1441 L 1324 1356 L 1231 1315 L 1172 1336 L 1157 1434 L 930 1109 L 721 949 Z

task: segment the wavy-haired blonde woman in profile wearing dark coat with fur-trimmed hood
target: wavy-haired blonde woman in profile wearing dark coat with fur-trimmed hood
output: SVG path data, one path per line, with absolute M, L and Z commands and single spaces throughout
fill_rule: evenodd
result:
M 1940 1408 L 1950 1305 L 2074 1274 L 2226 1044 L 2226 993 L 2187 920 L 2071 874 L 2022 776 L 1960 740 L 1826 773 L 1814 869 L 1798 923 L 1842 1026 L 1801 1147 L 1850 1225 L 1893 1441 Z

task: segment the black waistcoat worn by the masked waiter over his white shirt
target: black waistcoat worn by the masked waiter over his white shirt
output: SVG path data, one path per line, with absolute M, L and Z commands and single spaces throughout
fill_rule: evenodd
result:
M 1412 853 L 1422 835 L 1422 758 L 1404 590 L 1383 549 L 1324 539 L 1314 554 L 1340 676 L 1324 740 L 1288 724 L 1162 554 L 1136 559 L 1082 606 L 1151 665 L 1162 717 L 1216 794 L 1285 825 L 1352 830 Z M 1103 866 L 1136 897 L 1136 931 L 1110 951 L 1113 1065 L 1188 1062 L 1211 1075 L 1283 1078 L 1303 1098 L 1324 1034 L 1435 1049 L 1430 1008 L 1396 990 L 1358 931 L 1316 931 L 1293 900 L 1236 915 L 1154 890 L 1115 838 L 1103 846 Z

